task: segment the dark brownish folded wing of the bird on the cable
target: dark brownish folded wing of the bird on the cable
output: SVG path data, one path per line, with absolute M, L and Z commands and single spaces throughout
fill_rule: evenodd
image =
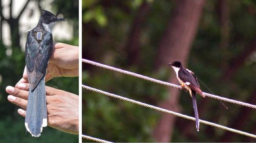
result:
M 178 71 L 178 76 L 180 80 L 182 80 L 182 82 L 184 83 L 189 82 L 187 86 L 189 86 L 192 90 L 197 92 L 199 95 L 203 96 L 202 90 L 200 89 L 199 83 L 197 82 L 197 78 L 191 72 L 187 71 L 184 68 L 180 68 L 180 70 Z

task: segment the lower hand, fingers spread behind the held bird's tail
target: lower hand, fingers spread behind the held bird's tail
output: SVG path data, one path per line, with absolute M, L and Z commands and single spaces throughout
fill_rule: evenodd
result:
M 20 106 L 18 114 L 25 117 L 28 103 L 29 84 L 20 83 L 17 88 L 7 86 L 6 92 L 10 95 L 7 99 Z M 46 86 L 47 122 L 48 126 L 68 132 L 78 134 L 78 95 Z

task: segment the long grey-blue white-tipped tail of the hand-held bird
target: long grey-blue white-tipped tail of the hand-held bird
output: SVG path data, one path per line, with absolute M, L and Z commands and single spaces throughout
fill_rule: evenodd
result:
M 32 137 L 39 137 L 47 126 L 45 79 L 41 79 L 34 90 L 29 88 L 25 126 Z

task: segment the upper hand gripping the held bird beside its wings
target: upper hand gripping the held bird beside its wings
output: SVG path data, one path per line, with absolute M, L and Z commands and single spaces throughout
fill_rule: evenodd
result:
M 52 57 L 50 58 L 47 72 L 46 72 L 46 82 L 54 77 L 75 77 L 78 76 L 79 49 L 77 46 L 72 46 L 64 43 L 53 44 Z M 26 72 L 26 67 L 24 69 L 23 78 L 15 85 L 19 83 L 28 83 L 28 76 Z

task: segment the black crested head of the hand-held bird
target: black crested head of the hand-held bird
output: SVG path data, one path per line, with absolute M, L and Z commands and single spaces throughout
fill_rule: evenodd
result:
M 52 31 L 52 27 L 55 25 L 58 21 L 65 21 L 65 19 L 57 17 L 50 11 L 46 11 L 41 9 L 41 16 L 39 19 L 39 23 L 46 27 L 47 30 Z

